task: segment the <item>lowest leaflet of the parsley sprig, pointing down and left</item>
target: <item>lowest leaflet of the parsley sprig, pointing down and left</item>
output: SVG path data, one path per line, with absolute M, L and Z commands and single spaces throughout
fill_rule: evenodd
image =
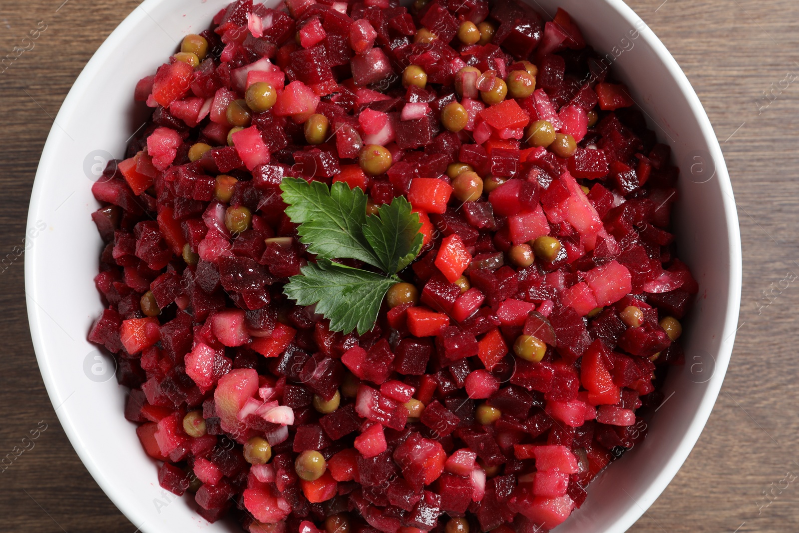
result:
M 300 268 L 284 287 L 286 296 L 300 305 L 316 304 L 316 312 L 330 320 L 330 329 L 363 335 L 371 330 L 388 288 L 399 279 L 360 268 L 320 260 Z

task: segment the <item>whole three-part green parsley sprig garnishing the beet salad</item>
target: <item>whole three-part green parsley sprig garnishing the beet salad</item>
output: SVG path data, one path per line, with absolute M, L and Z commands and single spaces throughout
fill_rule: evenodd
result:
M 383 297 L 401 281 L 395 272 L 410 265 L 422 249 L 419 214 L 404 197 L 366 216 L 364 191 L 338 181 L 328 189 L 320 181 L 286 177 L 280 185 L 286 214 L 299 224 L 300 242 L 316 254 L 316 263 L 300 268 L 283 288 L 300 305 L 316 304 L 336 332 L 371 330 Z M 357 259 L 385 273 L 352 268 L 333 259 Z

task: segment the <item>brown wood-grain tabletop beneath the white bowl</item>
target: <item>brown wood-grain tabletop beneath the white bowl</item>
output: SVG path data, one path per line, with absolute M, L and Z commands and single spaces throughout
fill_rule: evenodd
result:
M 131 0 L 62 2 L 0 0 L 0 56 L 30 48 L 22 38 L 46 24 L 33 50 L 0 74 L 2 257 L 22 245 L 39 155 L 66 93 L 137 8 Z M 744 250 L 741 328 L 721 395 L 682 470 L 630 531 L 799 531 L 792 473 L 799 473 L 799 83 L 782 82 L 799 74 L 799 2 L 630 5 L 705 105 L 733 181 Z M 23 261 L 0 267 L 0 455 L 31 430 L 46 430 L 0 473 L 0 531 L 134 533 L 78 459 L 48 400 L 30 342 Z M 786 277 L 794 281 L 780 290 Z

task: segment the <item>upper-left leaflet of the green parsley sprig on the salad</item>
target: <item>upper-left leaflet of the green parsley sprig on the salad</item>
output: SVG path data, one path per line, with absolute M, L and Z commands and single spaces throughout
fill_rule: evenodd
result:
M 337 181 L 328 189 L 320 181 L 285 177 L 280 184 L 286 214 L 299 224 L 300 242 L 324 259 L 357 259 L 380 268 L 380 260 L 364 237 L 366 195 Z M 392 272 L 393 273 L 393 272 Z

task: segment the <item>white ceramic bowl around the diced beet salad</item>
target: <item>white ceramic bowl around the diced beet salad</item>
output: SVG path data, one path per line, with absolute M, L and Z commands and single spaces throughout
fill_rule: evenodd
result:
M 741 298 L 741 245 L 721 149 L 694 89 L 666 48 L 621 0 L 528 0 L 550 18 L 557 6 L 586 41 L 607 53 L 651 129 L 682 169 L 678 243 L 700 293 L 683 337 L 686 364 L 666 383 L 668 400 L 649 436 L 590 484 L 585 505 L 559 533 L 625 531 L 660 495 L 702 432 L 729 362 Z M 101 240 L 90 186 L 110 154 L 141 125 L 133 87 L 209 25 L 229 0 L 146 0 L 109 36 L 66 97 L 42 154 L 28 224 L 26 294 L 34 347 L 47 391 L 83 463 L 141 531 L 239 531 L 210 525 L 162 490 L 157 465 L 122 416 L 126 392 L 113 363 L 85 339 L 102 305 L 94 288 Z M 276 3 L 276 2 L 273 2 Z M 46 229 L 38 231 L 46 225 Z M 671 396 L 673 394 L 673 396 Z M 191 503 L 193 505 L 193 503 Z

